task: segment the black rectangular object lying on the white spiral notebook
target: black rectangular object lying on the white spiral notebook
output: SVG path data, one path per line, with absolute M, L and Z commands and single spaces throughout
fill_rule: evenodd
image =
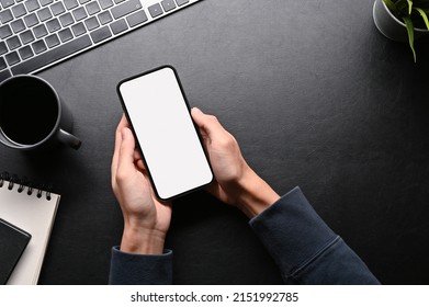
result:
M 31 235 L 0 218 L 0 284 L 5 285 Z

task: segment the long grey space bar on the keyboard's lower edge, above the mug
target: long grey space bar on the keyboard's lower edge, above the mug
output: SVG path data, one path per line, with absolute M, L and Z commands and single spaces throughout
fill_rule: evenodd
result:
M 13 75 L 27 73 L 36 69 L 43 68 L 44 66 L 54 62 L 56 60 L 63 59 L 69 55 L 75 54 L 81 49 L 84 49 L 91 46 L 91 39 L 88 35 L 80 36 L 76 39 L 69 41 L 66 44 L 48 50 L 42 55 L 35 56 L 15 67 L 12 68 Z

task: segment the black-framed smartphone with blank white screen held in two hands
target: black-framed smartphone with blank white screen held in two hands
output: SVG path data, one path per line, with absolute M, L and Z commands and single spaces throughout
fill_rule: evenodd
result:
M 117 93 L 159 200 L 170 201 L 212 182 L 212 168 L 173 67 L 125 79 Z

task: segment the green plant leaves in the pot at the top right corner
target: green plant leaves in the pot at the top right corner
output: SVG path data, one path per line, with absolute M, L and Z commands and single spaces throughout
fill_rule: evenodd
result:
M 408 42 L 414 55 L 414 61 L 417 60 L 414 48 L 414 29 L 427 27 L 429 30 L 429 0 L 383 0 L 391 12 L 404 21 L 407 32 Z

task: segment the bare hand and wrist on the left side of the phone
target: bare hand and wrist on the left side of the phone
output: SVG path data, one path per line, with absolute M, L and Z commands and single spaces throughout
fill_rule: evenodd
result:
M 125 116 L 116 128 L 111 171 L 113 192 L 124 217 L 121 250 L 161 254 L 170 227 L 171 203 L 161 203 L 155 196 Z

